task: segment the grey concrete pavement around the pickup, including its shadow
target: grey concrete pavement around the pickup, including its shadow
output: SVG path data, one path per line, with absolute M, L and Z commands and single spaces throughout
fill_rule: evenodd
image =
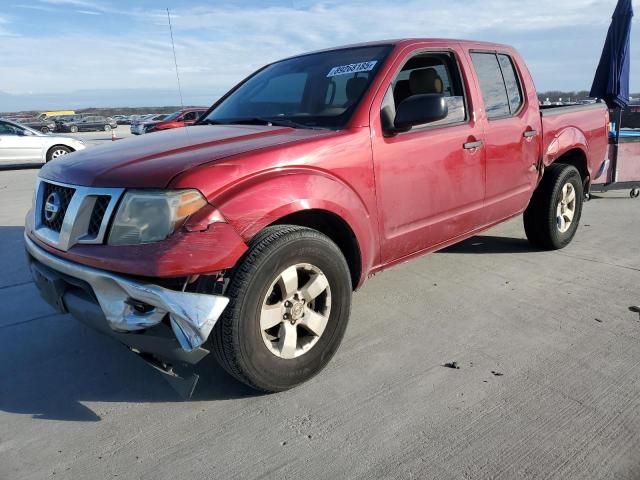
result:
M 0 172 L 1 479 L 640 478 L 627 191 L 586 204 L 562 251 L 530 248 L 518 218 L 370 279 L 335 358 L 294 390 L 208 364 L 182 401 L 40 299 L 22 243 L 36 175 Z

